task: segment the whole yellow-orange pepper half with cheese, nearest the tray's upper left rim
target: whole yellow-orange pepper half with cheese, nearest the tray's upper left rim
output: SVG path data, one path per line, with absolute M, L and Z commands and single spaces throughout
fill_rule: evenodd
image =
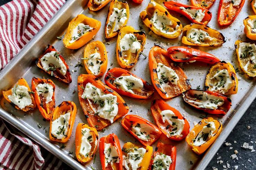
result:
M 100 21 L 79 14 L 69 22 L 63 43 L 68 49 L 79 49 L 89 42 L 99 31 Z

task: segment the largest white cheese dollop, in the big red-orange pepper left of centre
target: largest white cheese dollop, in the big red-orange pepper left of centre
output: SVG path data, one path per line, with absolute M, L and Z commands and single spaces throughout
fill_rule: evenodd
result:
M 114 118 L 118 112 L 117 97 L 113 94 L 104 94 L 104 92 L 95 87 L 91 83 L 87 83 L 84 92 L 81 95 L 83 99 L 91 99 L 95 104 L 98 105 L 98 109 L 95 113 L 111 122 L 114 122 Z

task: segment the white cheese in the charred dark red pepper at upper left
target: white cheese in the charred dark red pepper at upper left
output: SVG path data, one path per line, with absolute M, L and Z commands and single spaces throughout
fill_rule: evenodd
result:
M 40 58 L 41 65 L 46 71 L 53 71 L 57 68 L 60 69 L 60 73 L 64 76 L 67 73 L 67 67 L 59 57 L 59 53 L 56 51 L 51 51 L 46 53 Z

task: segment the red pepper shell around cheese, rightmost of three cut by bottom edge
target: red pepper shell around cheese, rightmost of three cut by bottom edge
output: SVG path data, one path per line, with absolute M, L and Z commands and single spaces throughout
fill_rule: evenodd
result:
M 175 170 L 176 155 L 177 155 L 176 147 L 172 146 L 172 145 L 169 145 L 169 144 L 164 144 L 162 142 L 158 142 L 158 144 L 156 145 L 155 152 L 152 155 L 152 159 L 150 161 L 150 165 L 149 165 L 148 170 L 153 170 L 154 168 L 156 169 L 157 167 L 159 167 L 158 161 L 155 160 L 155 159 L 157 159 L 157 155 L 161 156 L 163 154 L 165 155 L 164 156 L 165 158 L 167 156 L 170 156 L 170 159 L 172 161 L 170 163 L 170 165 L 169 165 L 169 169 L 168 170 Z

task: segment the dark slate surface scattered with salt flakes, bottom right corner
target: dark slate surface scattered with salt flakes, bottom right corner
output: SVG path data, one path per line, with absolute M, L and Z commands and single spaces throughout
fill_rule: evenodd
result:
M 9 2 L 11 0 L 0 0 L 0 6 Z M 226 142 L 230 143 L 230 146 L 224 144 L 220 147 L 217 154 L 211 160 L 210 164 L 207 167 L 207 170 L 212 170 L 212 167 L 220 169 L 234 169 L 235 165 L 238 165 L 238 169 L 256 169 L 256 152 L 251 152 L 248 148 L 242 148 L 243 143 L 249 143 L 249 146 L 254 146 L 256 150 L 256 100 L 250 105 L 249 109 L 245 112 L 242 119 L 238 122 L 236 127 L 233 129 L 231 134 L 227 137 Z M 248 127 L 250 126 L 250 128 Z M 248 129 L 249 128 L 249 129 Z M 236 143 L 234 143 L 236 141 Z M 231 148 L 232 147 L 232 148 Z M 238 151 L 237 159 L 231 158 L 231 155 L 234 154 L 234 150 Z M 219 163 L 217 163 L 219 161 Z M 220 162 L 222 162 L 220 164 Z M 228 168 L 227 163 L 230 164 Z M 176 165 L 178 169 L 179 165 Z

